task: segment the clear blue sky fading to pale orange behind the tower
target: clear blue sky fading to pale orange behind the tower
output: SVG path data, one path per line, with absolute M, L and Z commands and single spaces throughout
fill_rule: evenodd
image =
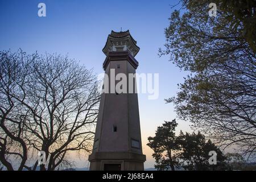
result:
M 46 17 L 38 16 L 38 4 L 46 3 Z M 0 1 L 0 50 L 11 49 L 32 53 L 61 53 L 76 59 L 87 68 L 102 73 L 105 55 L 102 48 L 111 30 L 130 30 L 141 48 L 135 57 L 138 73 L 159 73 L 159 98 L 148 100 L 139 94 L 139 111 L 143 152 L 147 155 L 145 167 L 153 167 L 152 151 L 146 146 L 163 121 L 176 117 L 172 104 L 164 98 L 175 96 L 177 84 L 187 73 L 158 56 L 158 48 L 165 43 L 164 28 L 178 1 L 79 1 L 28 0 Z M 189 130 L 189 123 L 179 121 L 177 132 Z

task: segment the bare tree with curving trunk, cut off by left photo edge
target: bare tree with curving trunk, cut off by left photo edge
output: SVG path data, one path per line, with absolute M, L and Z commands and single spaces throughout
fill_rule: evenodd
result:
M 27 56 L 21 50 L 16 53 L 0 52 L 0 161 L 8 170 L 22 170 L 27 160 L 28 146 L 23 138 L 24 109 L 14 97 L 22 100 L 22 86 L 29 75 Z

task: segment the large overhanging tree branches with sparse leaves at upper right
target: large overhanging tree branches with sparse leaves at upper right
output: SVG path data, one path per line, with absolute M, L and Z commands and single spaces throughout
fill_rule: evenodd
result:
M 226 147 L 236 144 L 247 156 L 256 146 L 255 1 L 181 1 L 165 29 L 165 49 L 180 69 L 189 71 L 173 102 L 181 119 Z

